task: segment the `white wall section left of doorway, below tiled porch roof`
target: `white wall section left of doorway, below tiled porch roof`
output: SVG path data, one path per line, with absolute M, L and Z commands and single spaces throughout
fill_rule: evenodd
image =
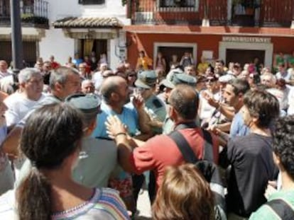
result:
M 69 56 L 74 56 L 75 40 L 65 37 L 61 29 L 46 30 L 45 35 L 39 43 L 40 57 L 43 57 L 44 61 L 54 55 L 55 61 L 65 64 Z

